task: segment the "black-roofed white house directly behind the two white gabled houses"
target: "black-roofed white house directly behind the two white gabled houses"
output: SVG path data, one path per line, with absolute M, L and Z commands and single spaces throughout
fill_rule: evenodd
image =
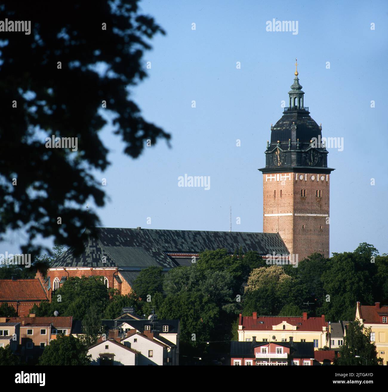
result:
M 152 320 L 137 320 L 131 314 L 123 314 L 115 320 L 101 320 L 101 323 L 105 334 L 112 333 L 109 331 L 117 330 L 117 336 L 120 339 L 126 338 L 127 333 L 132 331 L 146 336 L 152 333 L 155 341 L 167 347 L 166 364 L 179 365 L 179 320 L 158 320 L 157 316 L 153 316 Z

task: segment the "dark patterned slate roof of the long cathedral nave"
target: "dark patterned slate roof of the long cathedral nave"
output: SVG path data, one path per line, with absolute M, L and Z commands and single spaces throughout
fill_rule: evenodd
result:
M 71 249 L 58 257 L 51 267 L 150 267 L 179 265 L 167 253 L 199 253 L 226 248 L 233 253 L 254 250 L 260 255 L 288 254 L 277 233 L 123 229 L 97 227 L 97 238 L 89 238 L 85 251 L 74 256 Z M 106 257 L 103 262 L 102 256 Z

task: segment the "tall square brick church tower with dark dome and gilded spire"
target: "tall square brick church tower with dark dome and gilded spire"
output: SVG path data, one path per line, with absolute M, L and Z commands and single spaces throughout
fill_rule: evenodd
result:
M 263 232 L 278 232 L 299 261 L 314 252 L 329 257 L 329 189 L 322 127 L 303 105 L 298 64 L 289 107 L 272 126 L 263 173 Z

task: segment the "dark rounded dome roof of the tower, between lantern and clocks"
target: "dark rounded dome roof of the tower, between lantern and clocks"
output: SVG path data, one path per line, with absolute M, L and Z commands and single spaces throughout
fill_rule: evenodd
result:
M 296 125 L 296 130 L 292 132 L 292 123 Z M 312 138 L 318 138 L 322 132 L 318 124 L 310 117 L 306 110 L 286 110 L 282 118 L 272 127 L 271 143 L 288 143 L 291 139 L 292 143 L 296 143 L 299 139 L 300 143 L 310 143 Z

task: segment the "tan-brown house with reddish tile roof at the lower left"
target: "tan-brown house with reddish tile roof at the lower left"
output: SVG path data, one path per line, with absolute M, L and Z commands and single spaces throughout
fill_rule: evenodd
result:
M 72 328 L 72 317 L 9 317 L 0 318 L 0 322 L 19 323 L 20 333 L 17 335 L 18 353 L 26 361 L 34 361 L 42 355 L 43 349 L 56 339 L 58 334 L 69 335 Z

